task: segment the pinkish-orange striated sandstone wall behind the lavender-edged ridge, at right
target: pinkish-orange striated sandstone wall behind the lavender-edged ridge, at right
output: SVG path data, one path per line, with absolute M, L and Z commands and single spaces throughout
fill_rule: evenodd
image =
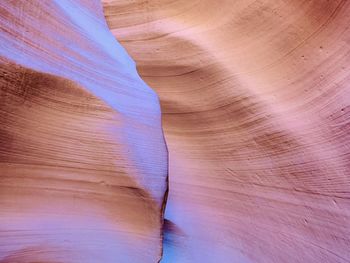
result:
M 162 262 L 349 262 L 350 2 L 103 3 L 161 100 Z

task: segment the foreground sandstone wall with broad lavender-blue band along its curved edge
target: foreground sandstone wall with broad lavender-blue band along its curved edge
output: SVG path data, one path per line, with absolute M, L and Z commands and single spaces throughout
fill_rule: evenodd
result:
M 158 97 L 100 1 L 0 2 L 0 262 L 157 262 Z

